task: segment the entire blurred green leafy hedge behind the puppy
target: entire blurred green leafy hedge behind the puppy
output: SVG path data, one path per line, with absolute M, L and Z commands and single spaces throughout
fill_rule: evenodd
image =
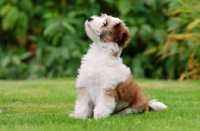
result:
M 92 42 L 84 21 L 123 19 L 135 78 L 200 79 L 198 0 L 0 0 L 0 79 L 75 77 Z

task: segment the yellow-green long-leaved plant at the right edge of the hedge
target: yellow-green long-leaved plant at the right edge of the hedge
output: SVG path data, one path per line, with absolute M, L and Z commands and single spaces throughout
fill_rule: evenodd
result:
M 171 1 L 168 35 L 153 50 L 169 78 L 200 78 L 200 2 Z

